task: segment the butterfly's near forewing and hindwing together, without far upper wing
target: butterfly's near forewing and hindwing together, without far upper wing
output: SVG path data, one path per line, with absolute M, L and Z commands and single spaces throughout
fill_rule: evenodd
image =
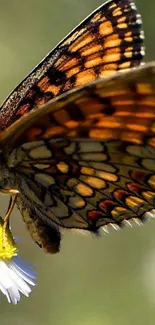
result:
M 154 63 L 61 95 L 8 133 L 20 196 L 47 224 L 97 233 L 155 215 Z

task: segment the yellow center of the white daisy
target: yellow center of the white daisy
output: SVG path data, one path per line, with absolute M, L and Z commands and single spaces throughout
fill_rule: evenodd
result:
M 11 230 L 3 228 L 4 220 L 0 217 L 0 260 L 8 261 L 17 255 L 16 243 Z

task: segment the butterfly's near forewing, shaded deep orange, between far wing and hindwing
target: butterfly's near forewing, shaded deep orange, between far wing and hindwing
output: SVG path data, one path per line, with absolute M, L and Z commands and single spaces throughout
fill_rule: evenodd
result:
M 1 147 L 58 138 L 118 139 L 155 146 L 154 64 L 68 92 L 1 133 Z M 8 146 L 9 144 L 9 146 Z

